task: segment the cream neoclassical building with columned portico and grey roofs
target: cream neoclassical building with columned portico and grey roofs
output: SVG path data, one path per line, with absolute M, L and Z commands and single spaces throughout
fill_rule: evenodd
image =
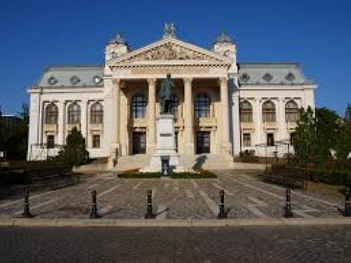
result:
M 299 107 L 314 108 L 316 85 L 296 63 L 240 63 L 237 46 L 220 34 L 211 50 L 164 36 L 131 50 L 117 34 L 105 65 L 46 67 L 28 89 L 28 159 L 57 154 L 75 126 L 93 158 L 152 154 L 158 88 L 170 73 L 180 156 L 232 159 L 241 151 L 287 153 Z M 290 148 L 290 151 L 292 149 Z

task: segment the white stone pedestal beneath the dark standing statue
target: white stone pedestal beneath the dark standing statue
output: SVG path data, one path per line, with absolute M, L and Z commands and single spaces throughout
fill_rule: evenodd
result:
M 185 172 L 180 166 L 180 157 L 176 152 L 173 114 L 161 114 L 157 117 L 156 149 L 151 156 L 150 165 L 140 169 L 140 172 L 162 172 L 162 166 L 169 164 L 170 172 Z

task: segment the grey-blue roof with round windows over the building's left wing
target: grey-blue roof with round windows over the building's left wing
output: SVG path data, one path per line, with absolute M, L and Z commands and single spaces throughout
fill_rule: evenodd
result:
M 37 83 L 41 87 L 97 87 L 103 86 L 103 65 L 49 66 Z

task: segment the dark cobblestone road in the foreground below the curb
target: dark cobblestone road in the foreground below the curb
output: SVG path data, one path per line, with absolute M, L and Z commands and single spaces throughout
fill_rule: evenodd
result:
M 351 228 L 0 228 L 0 262 L 351 262 Z

